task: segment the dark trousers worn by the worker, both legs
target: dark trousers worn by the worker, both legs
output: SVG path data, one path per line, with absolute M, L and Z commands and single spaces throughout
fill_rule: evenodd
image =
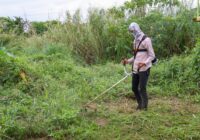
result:
M 147 71 L 133 74 L 132 77 L 132 91 L 135 93 L 135 97 L 138 103 L 138 109 L 147 109 L 148 96 L 147 96 L 147 81 L 150 74 L 150 68 Z

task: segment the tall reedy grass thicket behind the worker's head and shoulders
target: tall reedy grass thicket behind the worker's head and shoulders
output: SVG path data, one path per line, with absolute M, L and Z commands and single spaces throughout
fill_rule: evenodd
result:
M 88 64 L 130 57 L 133 37 L 127 28 L 131 22 L 138 22 L 152 38 L 159 58 L 190 51 L 200 32 L 199 24 L 191 20 L 193 12 L 187 10 L 180 11 L 176 16 L 152 11 L 145 17 L 132 16 L 126 19 L 106 10 L 91 9 L 86 22 L 77 18 L 80 17 L 79 12 L 73 17 L 54 26 L 44 36 L 70 47 L 77 57 L 83 58 Z

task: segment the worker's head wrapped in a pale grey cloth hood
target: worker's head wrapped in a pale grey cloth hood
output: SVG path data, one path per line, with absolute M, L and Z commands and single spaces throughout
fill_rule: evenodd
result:
M 140 29 L 140 26 L 135 23 L 135 22 L 132 22 L 130 25 L 129 25 L 129 28 L 128 28 L 129 32 L 133 34 L 133 36 L 135 37 L 135 39 L 139 38 L 141 35 L 144 35 L 144 33 L 142 32 L 142 30 Z

